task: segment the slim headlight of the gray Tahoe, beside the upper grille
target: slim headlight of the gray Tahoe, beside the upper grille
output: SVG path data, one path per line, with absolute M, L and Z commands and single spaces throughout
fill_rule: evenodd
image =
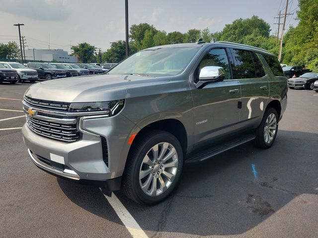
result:
M 114 116 L 124 107 L 124 103 L 124 99 L 108 102 L 71 103 L 70 113 L 104 111 L 108 116 Z

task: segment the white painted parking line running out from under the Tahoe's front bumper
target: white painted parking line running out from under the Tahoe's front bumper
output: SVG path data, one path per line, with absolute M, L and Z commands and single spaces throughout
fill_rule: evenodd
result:
M 130 215 L 124 205 L 119 201 L 116 195 L 113 193 L 111 197 L 104 195 L 109 204 L 115 210 L 117 216 L 127 228 L 130 235 L 133 238 L 148 238 L 146 233 L 140 228 L 136 220 Z

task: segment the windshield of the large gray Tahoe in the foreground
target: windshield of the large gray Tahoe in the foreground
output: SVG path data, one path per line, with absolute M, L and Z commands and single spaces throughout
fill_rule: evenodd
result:
M 176 75 L 199 50 L 199 47 L 168 47 L 140 51 L 112 68 L 109 74 Z

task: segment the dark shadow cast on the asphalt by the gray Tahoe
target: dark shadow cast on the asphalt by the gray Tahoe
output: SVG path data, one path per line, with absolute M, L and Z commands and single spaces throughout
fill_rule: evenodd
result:
M 176 191 L 158 205 L 141 206 L 120 191 L 115 194 L 145 231 L 238 235 L 296 196 L 318 194 L 317 155 L 317 133 L 279 130 L 270 149 L 246 143 L 202 163 L 186 165 Z M 120 222 L 98 188 L 63 179 L 58 183 L 83 209 Z

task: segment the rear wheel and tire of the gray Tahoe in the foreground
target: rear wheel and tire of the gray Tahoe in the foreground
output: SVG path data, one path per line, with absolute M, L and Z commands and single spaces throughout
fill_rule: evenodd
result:
M 256 129 L 254 145 L 259 148 L 270 148 L 276 138 L 278 130 L 278 114 L 275 109 L 266 109 L 262 122 Z

